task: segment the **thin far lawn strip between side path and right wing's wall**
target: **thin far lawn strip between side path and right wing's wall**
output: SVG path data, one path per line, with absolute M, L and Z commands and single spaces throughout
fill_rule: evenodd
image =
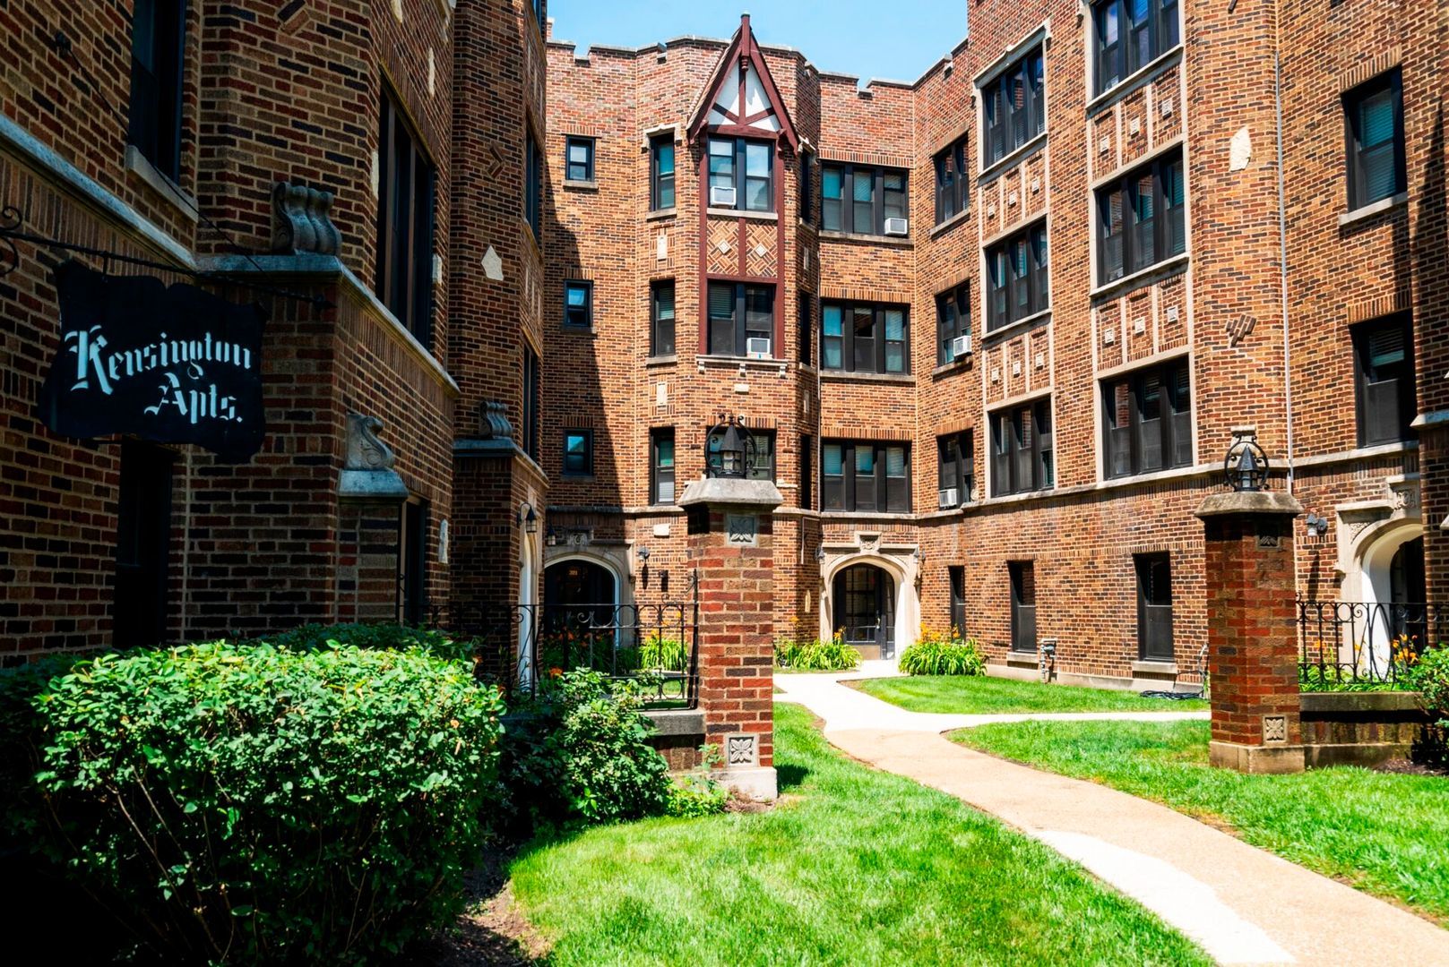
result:
M 993 715 L 1000 712 L 1187 712 L 1207 708 L 1200 699 L 1142 698 L 1072 685 L 1042 685 L 984 675 L 916 675 L 861 679 L 858 689 L 913 712 Z

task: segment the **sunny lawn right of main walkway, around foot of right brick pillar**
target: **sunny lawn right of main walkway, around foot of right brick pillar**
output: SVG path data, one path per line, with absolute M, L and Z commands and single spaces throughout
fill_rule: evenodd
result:
M 1020 722 L 952 738 L 1226 824 L 1256 847 L 1449 925 L 1449 779 L 1349 766 L 1245 776 L 1207 764 L 1207 722 Z

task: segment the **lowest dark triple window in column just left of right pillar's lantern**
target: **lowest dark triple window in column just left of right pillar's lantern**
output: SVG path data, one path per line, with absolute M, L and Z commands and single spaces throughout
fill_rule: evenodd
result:
M 1103 470 L 1108 478 L 1193 466 L 1187 359 L 1101 384 Z

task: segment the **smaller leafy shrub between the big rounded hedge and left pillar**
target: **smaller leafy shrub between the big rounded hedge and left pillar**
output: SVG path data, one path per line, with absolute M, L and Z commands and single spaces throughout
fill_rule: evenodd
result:
M 669 767 L 633 682 L 565 672 L 509 717 L 501 776 L 514 832 L 664 812 Z

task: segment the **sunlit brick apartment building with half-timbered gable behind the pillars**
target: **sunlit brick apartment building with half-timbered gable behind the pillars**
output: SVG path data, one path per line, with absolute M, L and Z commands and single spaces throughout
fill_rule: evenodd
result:
M 1323 521 L 1303 596 L 1442 599 L 1443 3 L 968 6 L 913 83 L 748 16 L 549 39 L 545 596 L 671 594 L 727 413 L 781 635 L 1171 683 L 1245 426 Z

